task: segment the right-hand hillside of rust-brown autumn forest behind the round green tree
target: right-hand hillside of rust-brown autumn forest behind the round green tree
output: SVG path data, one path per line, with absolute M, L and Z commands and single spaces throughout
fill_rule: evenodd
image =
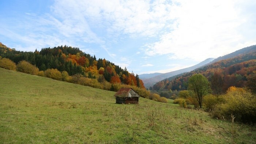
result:
M 211 82 L 213 93 L 225 92 L 230 86 L 245 87 L 250 83 L 249 77 L 256 70 L 256 49 L 249 53 L 214 62 L 210 65 L 186 72 L 178 76 L 169 77 L 154 85 L 154 90 L 187 90 L 189 77 L 201 73 Z M 255 73 L 255 72 L 254 72 Z M 214 87 L 220 87 L 217 92 Z

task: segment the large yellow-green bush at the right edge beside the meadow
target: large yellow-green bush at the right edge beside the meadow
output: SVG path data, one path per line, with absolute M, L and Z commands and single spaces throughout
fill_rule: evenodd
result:
M 224 102 L 219 103 L 212 112 L 213 117 L 229 119 L 231 114 L 235 121 L 256 123 L 256 96 L 244 88 L 232 87 L 223 95 Z

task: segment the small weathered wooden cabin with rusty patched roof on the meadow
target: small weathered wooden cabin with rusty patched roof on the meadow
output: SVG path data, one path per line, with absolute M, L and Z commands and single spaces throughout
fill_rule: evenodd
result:
M 132 88 L 121 88 L 114 96 L 116 97 L 116 103 L 119 104 L 138 104 L 140 97 Z

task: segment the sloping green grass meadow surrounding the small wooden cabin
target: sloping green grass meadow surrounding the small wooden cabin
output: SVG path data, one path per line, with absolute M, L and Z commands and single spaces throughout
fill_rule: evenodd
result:
M 0 68 L 0 143 L 255 143 L 256 127 L 204 111 Z M 228 118 L 226 118 L 228 119 Z

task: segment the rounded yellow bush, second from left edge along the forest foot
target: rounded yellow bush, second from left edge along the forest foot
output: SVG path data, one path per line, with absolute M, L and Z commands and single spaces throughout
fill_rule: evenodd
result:
M 27 61 L 20 61 L 16 67 L 17 71 L 37 75 L 39 69 Z

